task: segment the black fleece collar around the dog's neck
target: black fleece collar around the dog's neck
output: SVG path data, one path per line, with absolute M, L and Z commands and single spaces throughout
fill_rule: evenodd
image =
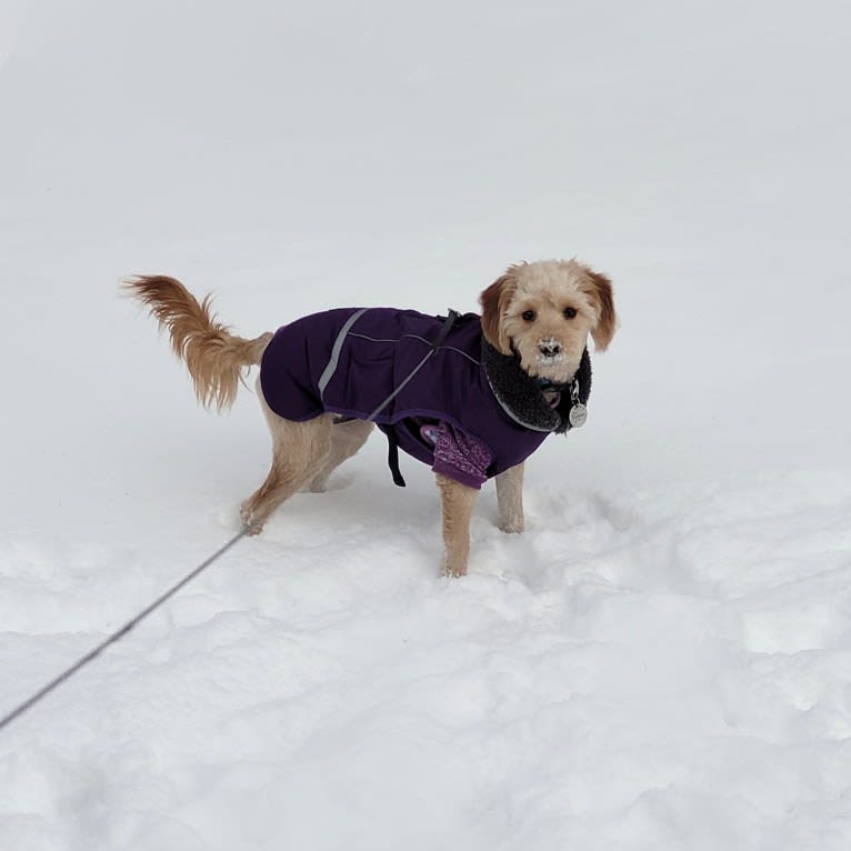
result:
M 502 354 L 482 338 L 482 363 L 488 383 L 502 409 L 517 423 L 532 431 L 563 434 L 571 428 L 568 417 L 573 407 L 573 386 L 579 391 L 582 404 L 588 402 L 591 394 L 591 358 L 588 349 L 582 352 L 577 373 L 559 388 L 561 399 L 554 408 L 544 398 L 538 380 L 521 368 L 520 356 Z

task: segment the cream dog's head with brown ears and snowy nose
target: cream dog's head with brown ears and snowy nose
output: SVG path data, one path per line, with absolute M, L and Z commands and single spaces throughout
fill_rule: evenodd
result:
M 575 260 L 511 266 L 480 301 L 484 339 L 554 384 L 573 378 L 588 336 L 602 351 L 618 321 L 609 279 Z

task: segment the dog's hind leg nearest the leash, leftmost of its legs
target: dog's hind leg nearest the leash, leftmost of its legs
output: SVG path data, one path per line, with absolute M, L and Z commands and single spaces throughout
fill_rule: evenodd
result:
M 266 481 L 242 503 L 240 517 L 249 534 L 258 534 L 278 505 L 312 481 L 328 461 L 331 449 L 331 414 L 307 422 L 284 420 L 271 411 L 261 396 L 263 413 L 272 432 L 272 465 Z

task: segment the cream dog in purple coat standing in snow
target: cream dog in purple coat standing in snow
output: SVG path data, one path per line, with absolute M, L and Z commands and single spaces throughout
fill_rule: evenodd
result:
M 611 281 L 575 259 L 510 266 L 481 293 L 481 317 L 347 308 L 256 339 L 231 333 L 209 296 L 199 302 L 174 278 L 124 287 L 169 332 L 204 407 L 229 408 L 247 370 L 260 366 L 272 463 L 241 505 L 247 533 L 259 533 L 293 493 L 324 490 L 378 426 L 398 484 L 399 448 L 434 470 L 449 577 L 467 573 L 485 480 L 495 478 L 500 528 L 523 531 L 524 461 L 548 434 L 582 424 L 588 338 L 604 351 L 618 324 Z

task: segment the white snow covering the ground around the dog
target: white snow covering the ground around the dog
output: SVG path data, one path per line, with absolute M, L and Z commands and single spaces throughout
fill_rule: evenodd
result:
M 615 283 L 589 422 L 485 489 L 373 440 L 0 733 L 0 848 L 844 851 L 844 3 L 151 0 L 0 11 L 0 714 L 238 529 L 137 272 L 246 334 Z

